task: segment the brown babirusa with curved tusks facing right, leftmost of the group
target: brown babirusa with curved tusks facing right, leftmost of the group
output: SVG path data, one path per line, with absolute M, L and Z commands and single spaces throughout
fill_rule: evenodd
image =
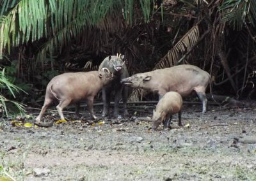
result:
M 47 85 L 44 106 L 36 118 L 36 122 L 40 122 L 45 110 L 54 101 L 60 102 L 58 106 L 56 106 L 60 119 L 64 119 L 63 108 L 71 103 L 78 104 L 81 100 L 86 100 L 91 117 L 97 119 L 93 112 L 94 96 L 103 85 L 108 84 L 112 79 L 113 74 L 110 73 L 107 68 L 103 68 L 101 71 L 63 73 L 55 76 Z M 78 115 L 79 110 L 77 108 L 76 116 Z

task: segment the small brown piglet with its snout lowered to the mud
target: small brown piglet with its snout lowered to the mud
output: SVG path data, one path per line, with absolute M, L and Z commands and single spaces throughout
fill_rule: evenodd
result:
M 182 108 L 182 97 L 178 92 L 167 92 L 163 98 L 159 100 L 156 105 L 156 111 L 153 111 L 153 124 L 152 131 L 163 122 L 164 128 L 170 126 L 172 115 L 179 113 L 179 126 L 181 124 L 181 108 Z

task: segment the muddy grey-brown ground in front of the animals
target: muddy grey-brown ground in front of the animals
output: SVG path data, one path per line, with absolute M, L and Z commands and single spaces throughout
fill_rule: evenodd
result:
M 178 127 L 175 115 L 172 129 L 154 132 L 145 119 L 152 108 L 138 109 L 136 115 L 130 110 L 131 119 L 48 128 L 2 120 L 0 180 L 256 180 L 256 144 L 234 141 L 256 136 L 254 107 L 209 106 L 202 115 L 200 105 L 185 105 L 186 126 Z

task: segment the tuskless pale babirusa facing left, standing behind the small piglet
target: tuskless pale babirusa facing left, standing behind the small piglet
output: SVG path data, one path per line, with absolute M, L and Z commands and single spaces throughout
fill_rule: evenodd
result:
M 123 78 L 122 83 L 134 89 L 141 88 L 156 92 L 161 99 L 166 92 L 179 92 L 181 96 L 188 96 L 195 91 L 202 101 L 205 113 L 207 99 L 205 89 L 211 81 L 211 76 L 206 71 L 193 65 L 179 65 L 171 68 L 157 69 L 145 73 L 137 73 L 128 78 Z

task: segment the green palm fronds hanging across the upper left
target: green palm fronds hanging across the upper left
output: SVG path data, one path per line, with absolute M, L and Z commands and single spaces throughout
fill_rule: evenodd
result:
M 154 1 L 148 0 L 3 0 L 0 8 L 0 58 L 7 49 L 46 38 L 38 59 L 67 45 L 86 27 L 98 26 L 109 14 L 123 15 L 132 24 L 134 7 L 141 7 L 148 22 Z M 153 3 L 152 3 L 153 2 Z M 10 8 L 12 7 L 12 8 Z

